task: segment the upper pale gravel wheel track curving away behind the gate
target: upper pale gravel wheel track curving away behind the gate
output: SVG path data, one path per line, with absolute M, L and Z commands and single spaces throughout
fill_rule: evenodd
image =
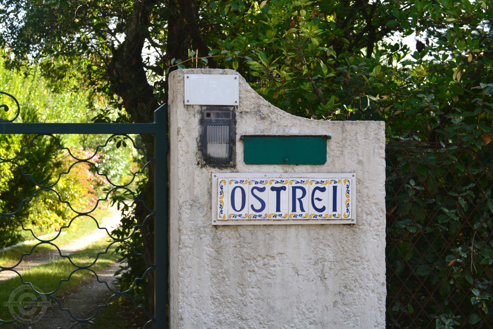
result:
M 99 226 L 101 228 L 106 228 L 109 232 L 111 232 L 111 230 L 116 228 L 116 226 L 120 223 L 120 218 L 121 216 L 119 211 L 112 211 L 110 216 L 106 216 L 103 218 Z M 58 246 L 58 248 L 60 248 L 60 251 L 63 256 L 68 256 L 78 250 L 84 249 L 91 243 L 98 241 L 101 238 L 104 238 L 105 236 L 108 237 L 106 230 L 96 229 L 78 239 L 72 240 L 70 243 L 67 243 L 63 246 Z M 54 243 L 56 243 L 56 240 L 54 241 Z M 17 265 L 15 269 L 22 274 L 24 271 L 32 267 L 46 264 L 49 263 L 50 261 L 58 260 L 58 259 L 61 259 L 60 254 L 58 253 L 58 250 L 53 248 L 52 251 L 49 251 L 47 253 L 24 256 L 22 262 L 19 265 Z M 15 276 L 17 276 L 17 273 L 15 272 L 3 271 L 0 273 L 0 282 L 6 279 L 13 278 Z

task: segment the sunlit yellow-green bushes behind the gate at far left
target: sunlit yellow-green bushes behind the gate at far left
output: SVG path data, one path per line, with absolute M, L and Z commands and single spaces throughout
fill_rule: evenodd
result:
M 51 92 L 48 82 L 39 74 L 39 69 L 33 67 L 30 73 L 24 69 L 15 72 L 0 67 L 0 90 L 15 95 L 21 106 L 21 114 L 17 121 L 42 122 L 51 121 L 87 121 L 86 112 L 80 93 Z M 25 92 L 26 91 L 26 92 Z M 12 118 L 15 112 L 15 104 L 5 96 L 1 97 L 2 104 L 7 102 L 9 112 L 2 113 L 2 118 Z M 11 103 L 9 103 L 9 101 Z M 2 111 L 3 112 L 3 111 Z M 94 154 L 93 149 L 75 149 L 71 145 L 80 145 L 79 136 L 70 135 L 62 139 L 64 146 L 69 146 L 72 154 L 89 158 Z M 65 136 L 64 136 L 65 137 Z M 34 140 L 34 141 L 33 141 Z M 24 148 L 19 158 L 15 161 L 22 166 L 24 173 L 31 174 L 35 182 L 41 185 L 54 183 L 62 172 L 69 170 L 70 159 L 66 151 L 61 151 L 58 142 L 51 137 L 34 135 L 0 135 L 0 158 L 11 159 L 21 151 L 22 145 L 33 142 L 31 147 Z M 103 160 L 108 155 L 102 156 Z M 93 158 L 94 163 L 100 161 L 100 156 Z M 72 160 L 73 161 L 73 160 Z M 31 179 L 22 175 L 19 167 L 12 162 L 0 164 L 0 211 L 13 213 L 17 211 L 22 200 L 29 199 L 35 193 L 36 186 Z M 94 204 L 98 195 L 99 186 L 104 181 L 101 176 L 95 174 L 95 169 L 88 164 L 78 164 L 72 167 L 70 174 L 61 175 L 57 185 L 57 192 L 63 200 L 70 201 L 75 209 L 89 210 L 88 205 Z M 40 191 L 33 196 L 33 200 L 25 203 L 21 211 L 16 214 L 25 228 L 35 229 L 38 232 L 53 232 L 59 230 L 62 225 L 68 225 L 74 213 L 63 203 L 58 196 L 51 191 Z M 0 247 L 5 247 L 18 242 L 20 224 L 11 217 L 1 219 Z M 72 224 L 70 229 L 75 229 Z

